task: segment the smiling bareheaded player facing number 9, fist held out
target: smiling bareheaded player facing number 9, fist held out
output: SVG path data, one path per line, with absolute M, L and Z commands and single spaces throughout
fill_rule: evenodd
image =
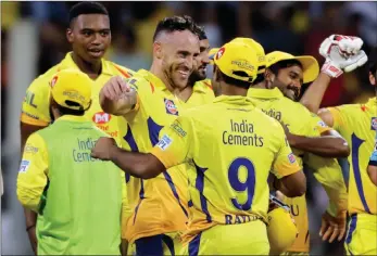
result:
M 166 17 L 158 24 L 153 36 L 150 71 L 140 69 L 127 80 L 114 77 L 103 87 L 103 110 L 123 116 L 128 124 L 123 148 L 149 151 L 159 142 L 162 127 L 188 107 L 212 101 L 211 88 L 188 87 L 200 59 L 199 46 L 197 25 L 190 17 Z M 134 212 L 126 225 L 126 238 L 129 243 L 135 242 L 137 255 L 178 252 L 177 238 L 188 221 L 187 168 L 192 166 L 183 164 L 150 180 L 127 177 Z

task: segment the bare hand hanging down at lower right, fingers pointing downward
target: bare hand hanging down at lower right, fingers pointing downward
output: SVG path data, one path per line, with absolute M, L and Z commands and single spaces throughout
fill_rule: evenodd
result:
M 334 217 L 327 210 L 322 215 L 319 236 L 323 241 L 332 243 L 338 238 L 341 241 L 345 234 L 347 212 L 340 212 Z

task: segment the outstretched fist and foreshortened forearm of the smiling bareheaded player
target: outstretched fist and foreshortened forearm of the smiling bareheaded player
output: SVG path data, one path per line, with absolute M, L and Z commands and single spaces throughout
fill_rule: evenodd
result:
M 123 77 L 112 77 L 100 91 L 100 104 L 104 112 L 112 115 L 125 115 L 138 108 L 139 98 L 135 88 Z

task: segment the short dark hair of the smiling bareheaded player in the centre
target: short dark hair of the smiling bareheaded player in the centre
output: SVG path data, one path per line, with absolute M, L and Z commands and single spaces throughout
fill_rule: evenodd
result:
M 153 42 L 155 41 L 156 37 L 163 31 L 174 33 L 184 30 L 189 30 L 192 34 L 198 35 L 198 25 L 193 22 L 193 20 L 190 16 L 185 15 L 165 17 L 164 20 L 160 21 L 158 26 L 155 27 Z

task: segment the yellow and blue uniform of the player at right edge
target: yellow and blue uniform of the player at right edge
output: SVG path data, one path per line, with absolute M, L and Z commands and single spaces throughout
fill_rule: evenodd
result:
M 329 107 L 334 128 L 348 141 L 349 204 L 351 220 L 345 248 L 351 255 L 377 254 L 377 188 L 369 179 L 367 166 L 377 130 L 376 98 L 365 104 Z

